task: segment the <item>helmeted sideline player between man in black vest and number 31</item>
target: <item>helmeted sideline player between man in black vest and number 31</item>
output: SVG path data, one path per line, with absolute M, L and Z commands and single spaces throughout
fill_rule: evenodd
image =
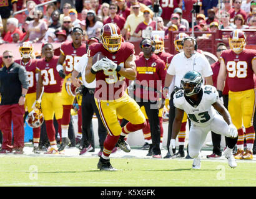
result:
M 27 76 L 29 78 L 29 90 L 27 91 L 25 109 L 30 113 L 33 110 L 33 104 L 36 101 L 36 59 L 32 59 L 32 53 L 34 48 L 29 42 L 23 42 L 21 47 L 19 47 L 19 52 L 21 53 L 21 59 L 15 60 L 16 63 L 24 66 L 27 71 Z M 41 127 L 33 128 L 33 143 L 34 143 L 34 153 L 39 154 L 39 141 L 40 141 Z

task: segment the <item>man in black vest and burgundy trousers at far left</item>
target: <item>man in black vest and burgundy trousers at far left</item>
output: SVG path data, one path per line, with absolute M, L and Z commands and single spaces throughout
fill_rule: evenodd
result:
M 1 153 L 11 152 L 23 154 L 24 147 L 24 104 L 29 79 L 26 69 L 14 62 L 10 50 L 2 54 L 4 67 L 0 69 L 0 129 L 3 133 Z M 12 126 L 14 145 L 12 147 Z

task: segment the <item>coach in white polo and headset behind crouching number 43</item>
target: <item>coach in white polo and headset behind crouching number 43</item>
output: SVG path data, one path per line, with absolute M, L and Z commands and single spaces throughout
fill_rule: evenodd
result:
M 214 85 L 212 81 L 212 68 L 210 67 L 210 63 L 208 62 L 207 58 L 202 55 L 201 53 L 197 52 L 197 41 L 193 37 L 185 37 L 182 40 L 183 44 L 183 52 L 180 52 L 172 58 L 170 62 L 170 66 L 167 69 L 167 74 L 165 76 L 164 82 L 164 90 L 163 95 L 166 97 L 167 93 L 169 92 L 170 83 L 174 80 L 175 91 L 179 90 L 180 88 L 180 81 L 185 73 L 189 72 L 190 70 L 195 70 L 199 72 L 205 79 L 206 85 Z M 175 110 L 174 103 L 173 103 L 173 95 L 175 93 L 173 91 L 170 95 L 170 111 Z M 169 113 L 169 126 L 168 126 L 168 138 L 167 138 L 167 155 L 164 158 L 170 158 L 170 139 L 172 136 L 172 123 L 175 118 L 175 113 Z

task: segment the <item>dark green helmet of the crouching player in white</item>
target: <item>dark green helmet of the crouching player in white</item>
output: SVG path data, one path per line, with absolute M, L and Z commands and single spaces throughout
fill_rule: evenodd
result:
M 195 70 L 193 70 L 185 73 L 180 83 L 181 83 L 180 87 L 184 90 L 184 94 L 186 96 L 191 96 L 199 93 L 203 83 L 203 78 L 199 72 L 196 72 Z M 185 83 L 195 85 L 193 90 L 184 89 Z

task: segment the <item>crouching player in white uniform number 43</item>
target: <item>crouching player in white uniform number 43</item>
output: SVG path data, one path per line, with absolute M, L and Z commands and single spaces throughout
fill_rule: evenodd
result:
M 200 149 L 210 131 L 228 137 L 229 142 L 224 155 L 229 166 L 235 168 L 237 162 L 232 150 L 237 143 L 237 129 L 232 124 L 229 112 L 219 100 L 216 88 L 210 85 L 202 86 L 202 82 L 202 76 L 195 71 L 189 71 L 183 76 L 182 89 L 174 94 L 176 109 L 170 146 L 175 147 L 175 138 L 179 133 L 185 112 L 192 122 L 189 131 L 189 155 L 194 158 L 192 168 L 200 169 Z

